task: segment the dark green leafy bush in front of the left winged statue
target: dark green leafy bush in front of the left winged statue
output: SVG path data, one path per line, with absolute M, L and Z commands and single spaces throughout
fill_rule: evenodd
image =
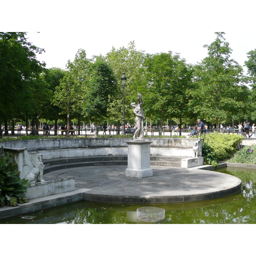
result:
M 25 193 L 27 180 L 20 179 L 17 164 L 13 157 L 0 150 L 0 205 L 16 206 L 27 202 Z

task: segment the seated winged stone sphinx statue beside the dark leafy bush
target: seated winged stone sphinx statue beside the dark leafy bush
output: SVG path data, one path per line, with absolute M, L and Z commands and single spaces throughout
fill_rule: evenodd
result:
M 24 150 L 23 178 L 30 184 L 35 182 L 44 182 L 44 163 L 42 163 L 42 154 L 30 153 L 27 148 Z

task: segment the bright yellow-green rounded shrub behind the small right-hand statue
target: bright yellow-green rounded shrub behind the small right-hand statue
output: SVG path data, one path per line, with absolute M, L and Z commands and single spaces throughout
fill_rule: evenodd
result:
M 236 152 L 243 136 L 237 134 L 211 133 L 205 136 L 205 143 L 215 152 L 217 161 L 226 160 Z

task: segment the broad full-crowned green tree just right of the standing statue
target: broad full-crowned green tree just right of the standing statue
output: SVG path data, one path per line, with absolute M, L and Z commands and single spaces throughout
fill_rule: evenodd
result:
M 147 105 L 144 112 L 153 120 L 182 119 L 189 116 L 187 91 L 192 89 L 192 67 L 179 54 L 157 53 L 145 57 L 140 83 Z M 144 77 L 144 82 L 141 79 Z M 141 90 L 143 88 L 141 87 Z

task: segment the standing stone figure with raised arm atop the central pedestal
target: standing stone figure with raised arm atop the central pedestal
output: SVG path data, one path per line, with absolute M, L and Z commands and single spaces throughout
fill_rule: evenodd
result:
M 144 112 L 143 112 L 143 108 L 142 108 L 142 104 L 143 99 L 140 93 L 137 93 L 138 97 L 137 97 L 137 105 L 135 104 L 135 102 L 131 103 L 131 106 L 134 108 L 134 114 L 136 116 L 135 118 L 135 122 L 137 125 L 137 130 L 134 133 L 134 140 L 144 140 L 143 139 L 143 119 L 145 119 L 144 116 Z

